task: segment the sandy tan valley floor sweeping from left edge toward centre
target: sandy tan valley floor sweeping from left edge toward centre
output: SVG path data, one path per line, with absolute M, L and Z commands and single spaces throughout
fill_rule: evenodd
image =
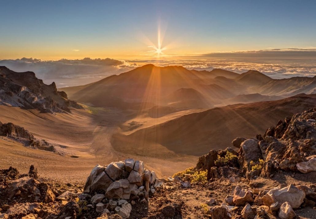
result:
M 157 153 L 150 150 L 152 153 L 145 155 L 135 149 L 114 149 L 111 144 L 112 134 L 128 119 L 128 114 L 124 117 L 114 109 L 94 110 L 97 111 L 73 109 L 72 114 L 52 115 L 37 110 L 0 106 L 1 122 L 12 122 L 25 127 L 37 139 L 60 145 L 58 152 L 63 154 L 25 147 L 17 141 L 1 137 L 1 169 L 15 166 L 26 172 L 33 164 L 42 174 L 41 177 L 82 184 L 95 165 L 106 165 L 126 158 L 143 160 L 146 168 L 154 170 L 159 177 L 167 177 L 195 166 L 197 157 L 176 155 L 163 147 Z

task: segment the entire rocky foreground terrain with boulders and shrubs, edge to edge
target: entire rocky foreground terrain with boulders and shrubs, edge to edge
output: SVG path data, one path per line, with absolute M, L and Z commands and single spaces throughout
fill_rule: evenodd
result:
M 133 159 L 97 165 L 85 185 L 0 171 L 2 218 L 315 218 L 316 108 L 237 137 L 158 179 Z M 82 176 L 85 178 L 84 176 Z M 84 185 L 84 186 L 83 186 Z

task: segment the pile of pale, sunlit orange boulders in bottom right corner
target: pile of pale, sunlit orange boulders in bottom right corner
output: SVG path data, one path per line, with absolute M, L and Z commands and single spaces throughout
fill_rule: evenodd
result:
M 300 208 L 303 202 L 308 200 L 316 201 L 316 197 L 306 198 L 308 193 L 315 195 L 316 193 L 306 186 L 304 189 L 307 192 L 301 186 L 291 184 L 287 187 L 279 185 L 269 191 L 253 192 L 236 186 L 232 191 L 233 195 L 228 195 L 220 206 L 210 208 L 210 215 L 212 219 L 239 218 L 239 216 L 245 219 L 275 218 L 274 216 L 292 219 L 296 216 L 293 209 Z M 240 208 L 240 206 L 244 207 Z M 214 214 L 214 212 L 221 213 Z

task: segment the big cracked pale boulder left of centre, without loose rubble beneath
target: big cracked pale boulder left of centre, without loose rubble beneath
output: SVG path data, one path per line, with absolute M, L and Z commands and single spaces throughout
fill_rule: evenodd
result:
M 126 159 L 93 168 L 84 187 L 84 193 L 105 192 L 107 198 L 129 199 L 131 195 L 154 191 L 159 185 L 155 172 L 146 170 L 142 161 Z M 143 191 L 140 188 L 144 188 Z

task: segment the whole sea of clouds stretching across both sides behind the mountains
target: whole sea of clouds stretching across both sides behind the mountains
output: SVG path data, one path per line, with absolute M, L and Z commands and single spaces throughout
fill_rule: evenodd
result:
M 249 55 L 249 54 L 247 54 Z M 229 55 L 226 55 L 229 57 Z M 116 59 L 60 59 L 41 60 L 33 58 L 3 59 L 0 66 L 6 66 L 16 72 L 32 71 L 46 84 L 53 81 L 57 87 L 89 84 L 113 74 L 130 71 L 136 67 L 152 63 L 156 66 L 184 66 L 188 69 L 207 70 L 221 68 L 237 73 L 258 70 L 271 78 L 314 77 L 316 59 L 273 58 L 273 57 L 209 57 L 208 54 L 193 59 L 154 59 L 154 60 L 116 60 Z

